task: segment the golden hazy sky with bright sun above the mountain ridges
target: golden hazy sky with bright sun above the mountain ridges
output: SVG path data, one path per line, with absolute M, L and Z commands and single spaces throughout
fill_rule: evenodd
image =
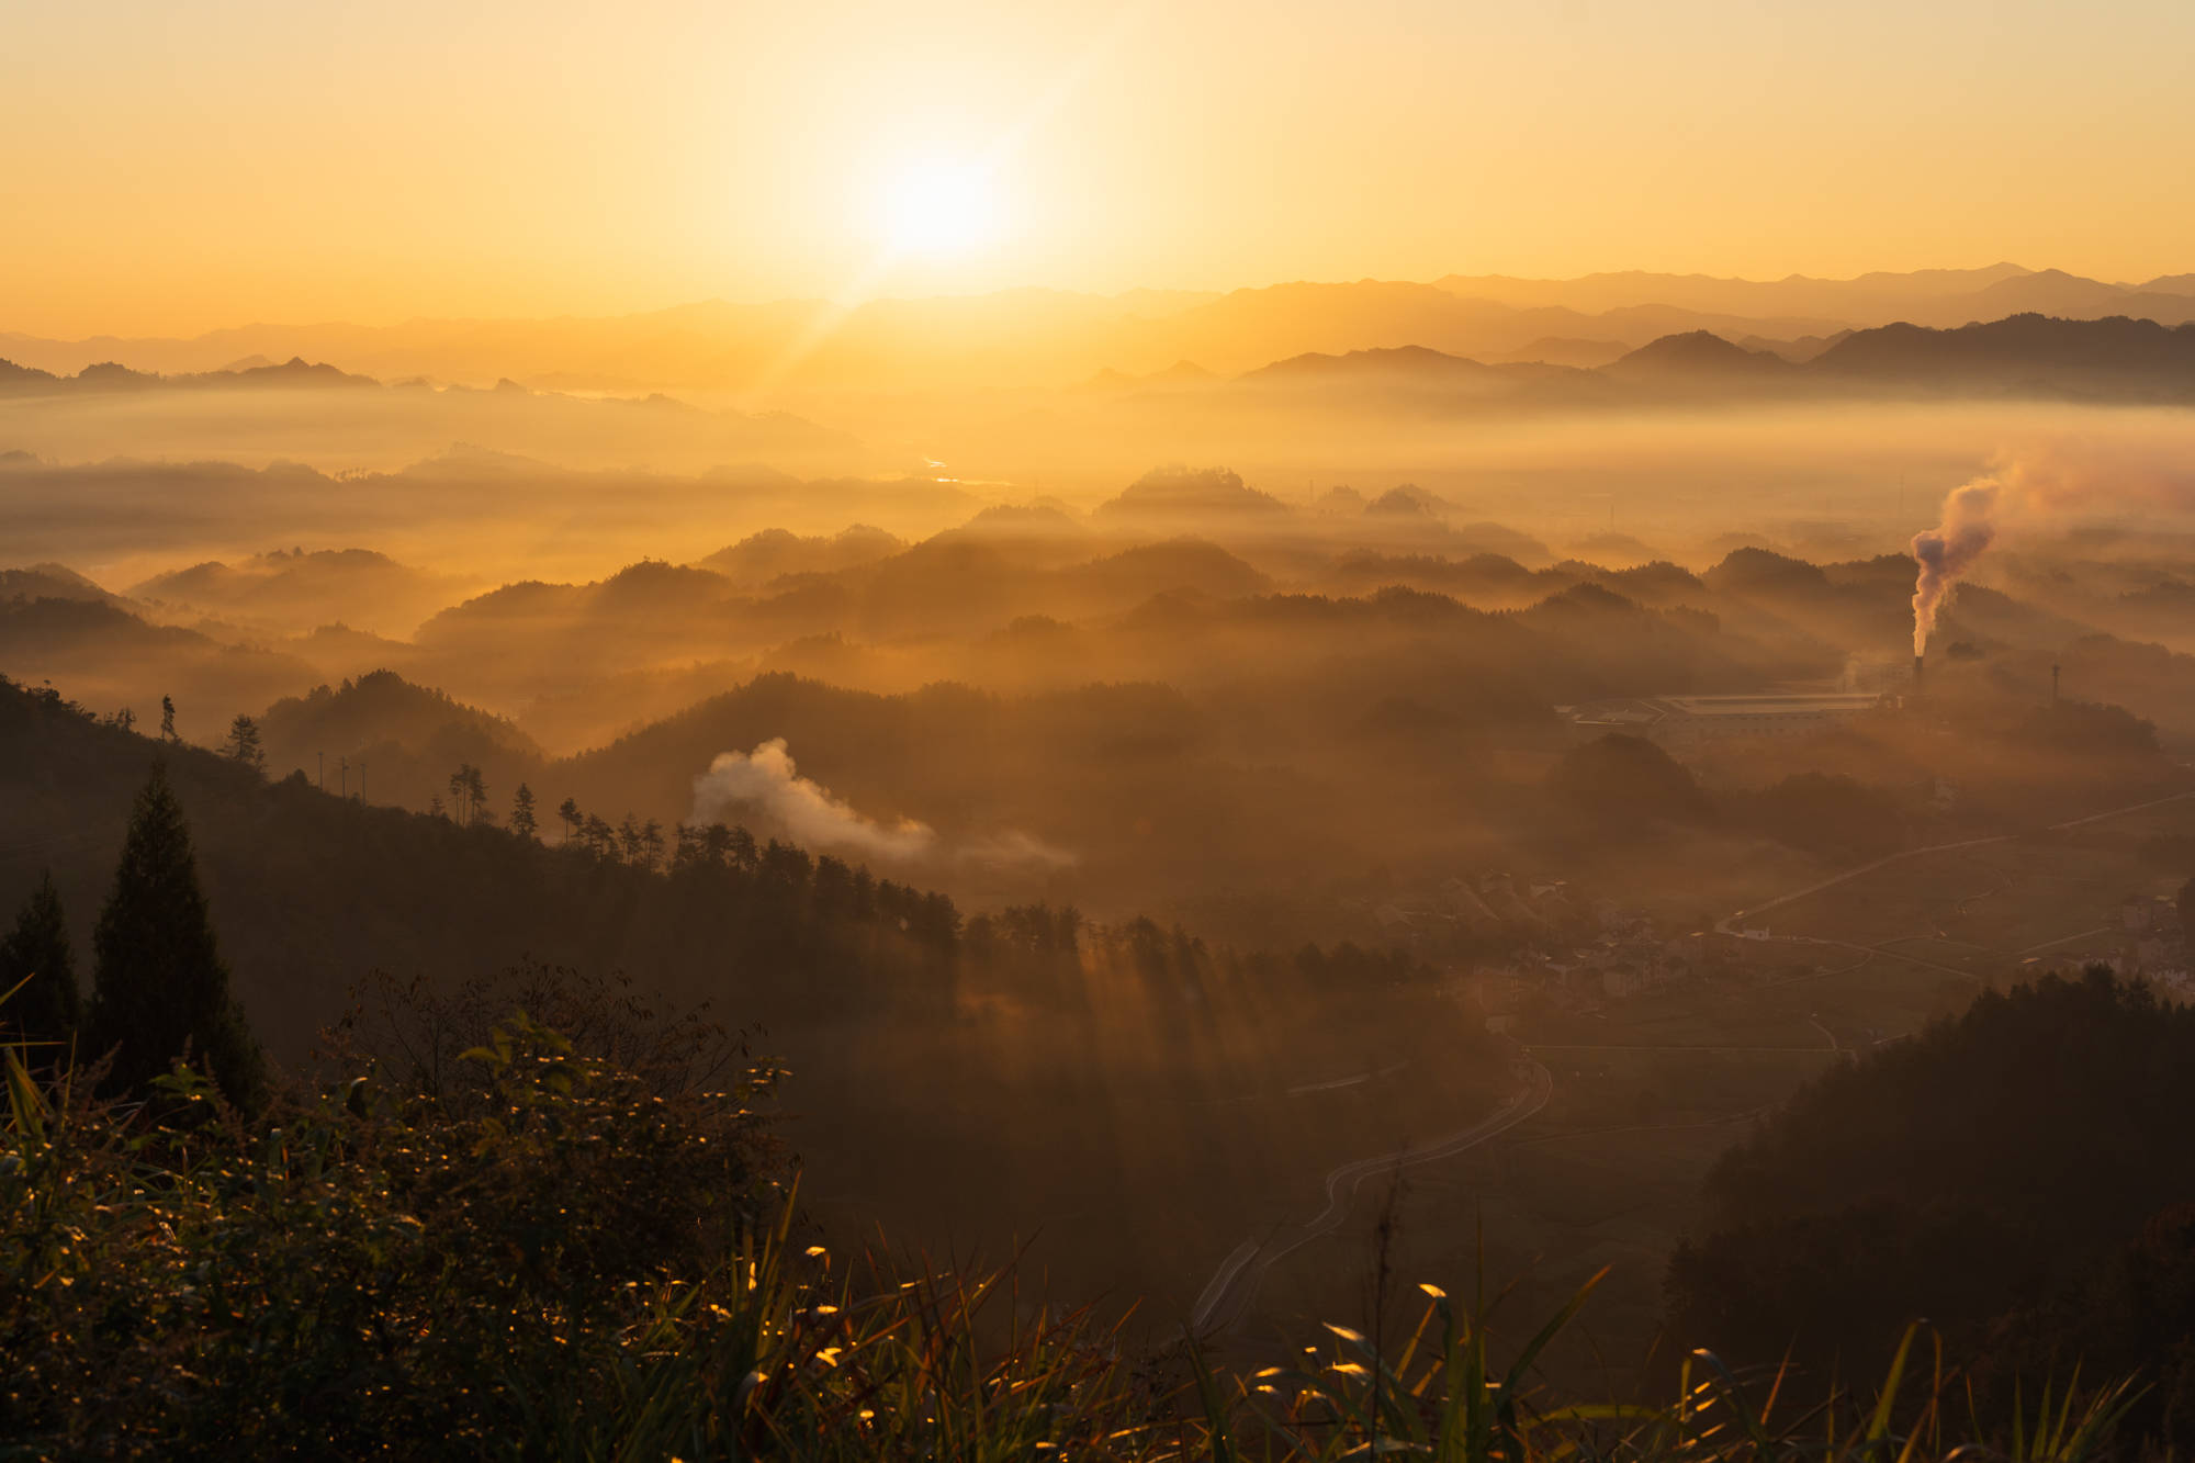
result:
M 0 0 L 0 332 L 1455 270 L 2147 279 L 2195 268 L 2191 121 L 2186 0 Z

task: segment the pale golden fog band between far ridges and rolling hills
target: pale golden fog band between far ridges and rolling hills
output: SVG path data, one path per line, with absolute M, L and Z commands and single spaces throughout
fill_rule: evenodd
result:
M 1163 398 L 1005 411 L 896 404 L 828 426 L 672 402 L 527 391 L 138 391 L 0 395 L 0 543 L 116 587 L 274 547 L 371 547 L 492 587 L 687 562 L 762 529 L 854 523 L 918 540 L 997 503 L 1091 512 L 1152 464 L 1223 464 L 1291 507 L 1414 483 L 1447 523 L 1497 521 L 1556 558 L 1706 567 L 1732 534 L 1798 551 L 1894 551 L 1943 492 L 2037 450 L 2184 459 L 2195 417 L 2063 404 L 1754 406 L 1453 417 Z M 35 461 L 33 461 L 35 459 Z M 1299 540 L 1240 514 L 1205 534 L 1284 567 Z M 1273 525 L 1267 525 L 1273 527 Z M 1409 545 L 1411 525 L 1381 543 Z M 1150 532 L 1150 525 L 1144 525 Z M 309 626 L 301 626 L 309 628 Z

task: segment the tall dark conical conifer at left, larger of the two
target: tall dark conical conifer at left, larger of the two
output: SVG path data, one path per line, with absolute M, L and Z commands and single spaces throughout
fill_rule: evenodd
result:
M 266 1059 L 228 995 L 191 828 L 160 762 L 138 793 L 92 947 L 99 969 L 83 1050 L 114 1052 L 116 1090 L 143 1092 L 189 1048 L 191 1065 L 211 1068 L 228 1101 L 257 1103 Z

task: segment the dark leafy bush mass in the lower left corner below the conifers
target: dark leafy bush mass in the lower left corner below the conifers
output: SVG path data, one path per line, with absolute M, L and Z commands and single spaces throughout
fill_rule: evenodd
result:
M 373 1076 L 246 1123 L 13 1063 L 0 1430 L 90 1454 L 487 1454 L 606 1406 L 784 1210 L 753 1085 L 663 1096 L 514 1021 L 474 1101 Z M 544 1399 L 558 1399 L 551 1417 Z

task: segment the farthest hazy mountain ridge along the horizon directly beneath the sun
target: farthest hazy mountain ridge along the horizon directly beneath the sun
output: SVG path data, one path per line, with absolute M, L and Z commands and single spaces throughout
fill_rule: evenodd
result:
M 1431 283 L 1293 281 L 1225 294 L 1005 290 L 878 299 L 849 312 L 828 301 L 700 301 L 597 319 L 246 325 L 189 340 L 0 334 L 0 358 L 20 367 L 0 369 L 0 391 L 22 389 L 26 376 L 66 376 L 94 362 L 123 362 L 136 373 L 246 378 L 294 371 L 301 360 L 340 360 L 347 371 L 380 380 L 489 387 L 509 378 L 533 389 L 615 395 L 751 389 L 757 382 L 1071 387 L 1100 371 L 1146 378 L 1183 360 L 1231 376 L 1310 351 L 1405 345 L 1475 360 L 1596 367 L 1620 349 L 1695 330 L 1727 340 L 1796 343 L 1892 321 L 1958 327 L 2024 312 L 2123 314 L 2182 325 L 2195 321 L 2195 275 L 2114 283 L 2015 264 L 1778 281 L 1653 272 L 1565 281 L 1449 275 Z M 819 325 L 828 330 L 819 334 Z M 255 360 L 288 365 L 250 365 Z M 1104 384 L 1122 382 L 1108 378 Z

